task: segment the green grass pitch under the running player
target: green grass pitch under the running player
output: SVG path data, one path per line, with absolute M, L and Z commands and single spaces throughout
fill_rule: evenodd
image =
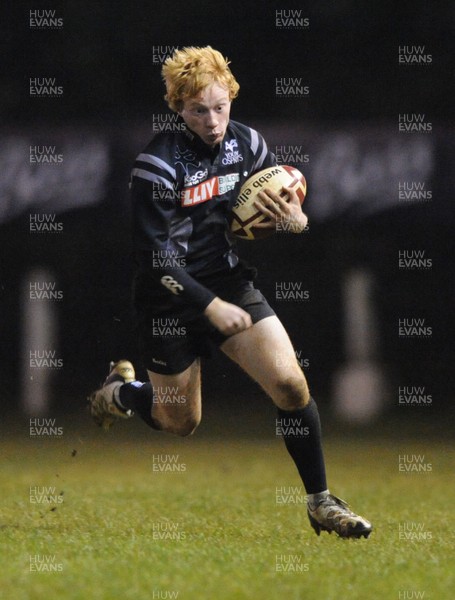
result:
M 153 472 L 154 454 L 179 454 L 186 470 Z M 433 470 L 399 473 L 399 454 L 424 454 Z M 318 538 L 303 506 L 276 504 L 276 486 L 300 485 L 280 440 L 95 431 L 11 438 L 2 455 L 0 598 L 453 597 L 453 460 L 443 445 L 327 440 L 331 489 L 373 522 L 368 540 Z M 64 500 L 32 504 L 31 486 L 55 486 Z M 157 522 L 177 524 L 181 539 L 154 539 Z M 431 539 L 400 540 L 404 522 Z M 31 572 L 30 555 L 55 556 L 62 570 Z M 277 572 L 276 555 L 307 570 Z

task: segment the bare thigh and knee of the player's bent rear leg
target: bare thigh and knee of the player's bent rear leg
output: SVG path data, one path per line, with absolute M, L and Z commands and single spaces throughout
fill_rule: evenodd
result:
M 166 431 L 191 433 L 201 420 L 200 359 L 175 375 L 147 372 L 153 386 L 153 417 Z

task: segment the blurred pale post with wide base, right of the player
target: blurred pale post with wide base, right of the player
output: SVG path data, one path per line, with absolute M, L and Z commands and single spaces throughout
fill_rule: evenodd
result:
M 386 380 L 377 363 L 377 326 L 371 300 L 372 276 L 351 271 L 343 286 L 346 364 L 335 374 L 334 404 L 339 417 L 366 424 L 381 413 Z

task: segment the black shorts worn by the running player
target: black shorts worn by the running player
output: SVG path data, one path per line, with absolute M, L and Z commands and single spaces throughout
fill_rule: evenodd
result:
M 254 323 L 275 314 L 253 285 L 253 269 L 239 265 L 222 277 L 205 280 L 204 285 L 226 302 L 251 315 Z M 215 347 L 229 336 L 216 329 L 207 317 L 182 304 L 178 296 L 153 292 L 140 277 L 135 284 L 135 307 L 139 344 L 144 366 L 155 373 L 175 375 L 198 357 L 210 357 Z

